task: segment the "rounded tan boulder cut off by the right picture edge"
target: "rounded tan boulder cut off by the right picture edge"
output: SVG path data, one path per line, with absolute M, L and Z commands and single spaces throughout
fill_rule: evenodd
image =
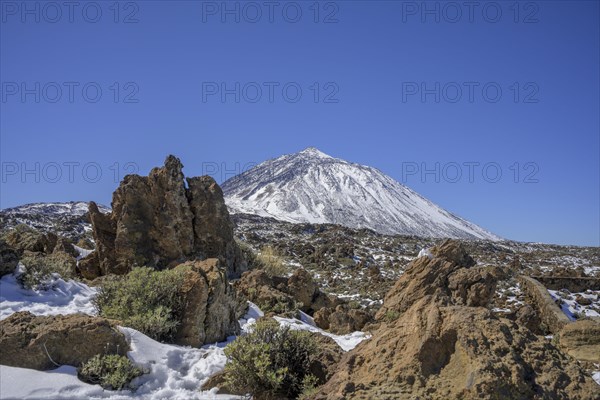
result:
M 600 323 L 582 319 L 565 325 L 560 331 L 559 346 L 580 361 L 600 362 Z

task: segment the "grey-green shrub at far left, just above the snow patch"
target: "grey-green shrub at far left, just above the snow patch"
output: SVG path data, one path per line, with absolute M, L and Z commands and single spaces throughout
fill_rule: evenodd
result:
M 77 264 L 74 257 L 65 253 L 43 255 L 28 252 L 21 258 L 21 263 L 25 269 L 18 279 L 27 289 L 44 287 L 54 273 L 63 279 L 74 278 Z

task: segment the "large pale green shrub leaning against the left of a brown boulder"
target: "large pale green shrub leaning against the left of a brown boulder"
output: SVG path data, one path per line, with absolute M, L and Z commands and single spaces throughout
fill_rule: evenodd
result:
M 105 318 L 121 320 L 155 340 L 170 340 L 179 324 L 183 300 L 178 295 L 185 270 L 134 268 L 105 280 L 94 306 Z

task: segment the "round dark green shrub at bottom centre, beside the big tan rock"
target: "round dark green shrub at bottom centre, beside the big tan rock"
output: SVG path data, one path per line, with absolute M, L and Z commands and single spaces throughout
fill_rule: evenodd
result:
M 251 333 L 225 348 L 227 386 L 261 398 L 297 398 L 314 383 L 307 376 L 315 351 L 310 333 L 261 320 Z

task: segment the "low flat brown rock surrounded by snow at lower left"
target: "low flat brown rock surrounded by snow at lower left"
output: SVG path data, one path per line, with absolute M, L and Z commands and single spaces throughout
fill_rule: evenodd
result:
M 104 318 L 35 316 L 24 311 L 0 321 L 3 365 L 38 370 L 56 364 L 79 367 L 96 354 L 125 355 L 128 350 L 125 336 Z

